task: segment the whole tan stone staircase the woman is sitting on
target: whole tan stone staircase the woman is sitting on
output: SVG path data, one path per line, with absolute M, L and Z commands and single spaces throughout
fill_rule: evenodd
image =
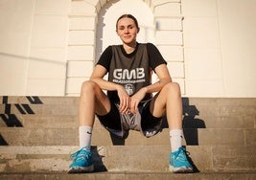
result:
M 111 137 L 98 121 L 96 172 L 68 174 L 79 147 L 77 97 L 0 97 L 0 179 L 256 179 L 256 99 L 183 98 L 184 142 L 198 173 L 168 171 L 167 124 L 156 136 Z M 114 146 L 113 146 L 114 145 Z

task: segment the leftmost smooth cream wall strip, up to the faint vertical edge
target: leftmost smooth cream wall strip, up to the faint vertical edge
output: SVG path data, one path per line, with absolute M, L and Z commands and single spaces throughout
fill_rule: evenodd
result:
M 25 94 L 35 1 L 0 1 L 0 94 Z

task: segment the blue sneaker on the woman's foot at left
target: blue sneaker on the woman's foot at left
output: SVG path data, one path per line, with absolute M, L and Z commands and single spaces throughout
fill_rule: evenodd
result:
M 85 147 L 70 155 L 73 163 L 69 166 L 69 173 L 91 172 L 94 170 L 92 164 L 92 153 Z

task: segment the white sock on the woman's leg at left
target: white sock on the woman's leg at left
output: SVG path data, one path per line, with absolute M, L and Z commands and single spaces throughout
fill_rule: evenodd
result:
M 80 137 L 80 148 L 86 146 L 86 148 L 91 148 L 91 135 L 92 127 L 82 125 L 79 127 L 79 137 Z

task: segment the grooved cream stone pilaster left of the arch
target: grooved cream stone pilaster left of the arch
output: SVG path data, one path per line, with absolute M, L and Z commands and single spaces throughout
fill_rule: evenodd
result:
M 69 14 L 66 95 L 78 96 L 95 58 L 98 1 L 72 1 Z M 100 10 L 100 8 L 98 8 Z

